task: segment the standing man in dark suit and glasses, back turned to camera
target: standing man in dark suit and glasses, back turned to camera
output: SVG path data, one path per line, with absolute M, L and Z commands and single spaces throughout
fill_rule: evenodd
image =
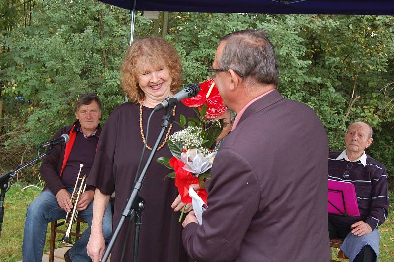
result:
M 315 112 L 276 90 L 278 63 L 263 30 L 222 39 L 213 68 L 237 113 L 207 182 L 208 210 L 185 218 L 197 261 L 329 261 L 328 139 Z

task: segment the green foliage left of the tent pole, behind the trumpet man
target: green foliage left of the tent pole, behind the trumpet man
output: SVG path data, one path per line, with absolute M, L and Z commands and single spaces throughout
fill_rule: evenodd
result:
M 124 99 L 118 68 L 128 45 L 126 12 L 95 1 L 49 0 L 35 1 L 31 15 L 30 25 L 14 23 L 0 34 L 1 98 L 22 113 L 4 110 L 10 121 L 0 142 L 8 148 L 33 148 L 72 123 L 78 94 L 97 92 L 105 116 Z M 13 120 L 26 114 L 21 129 Z

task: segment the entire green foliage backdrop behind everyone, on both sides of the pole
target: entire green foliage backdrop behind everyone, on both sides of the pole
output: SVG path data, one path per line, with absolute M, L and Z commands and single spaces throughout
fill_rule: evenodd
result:
M 124 101 L 118 71 L 129 44 L 128 11 L 90 0 L 31 2 L 29 19 L 18 9 L 9 23 L 12 26 L 0 24 L 4 116 L 27 119 L 21 128 L 26 130 L 23 134 L 9 135 L 6 141 L 0 136 L 3 146 L 33 148 L 72 123 L 70 108 L 80 93 L 99 94 L 104 120 Z M 0 13 L 4 13 L 2 9 L 6 9 L 5 4 L 0 5 Z M 137 13 L 134 38 L 166 30 L 166 39 L 181 55 L 184 79 L 189 83 L 208 78 L 206 69 L 225 34 L 264 28 L 278 56 L 280 92 L 317 112 L 331 150 L 344 148 L 343 134 L 349 123 L 362 120 L 371 124 L 375 135 L 369 153 L 383 162 L 391 175 L 393 20 L 390 16 L 172 12 L 168 28 L 158 31 L 161 21 Z M 19 107 L 11 107 L 13 103 Z M 14 108 L 21 108 L 21 113 Z

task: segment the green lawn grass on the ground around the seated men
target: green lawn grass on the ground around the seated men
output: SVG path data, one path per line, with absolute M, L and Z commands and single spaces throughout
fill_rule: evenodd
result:
M 0 243 L 0 261 L 14 262 L 22 260 L 22 239 L 23 228 L 25 225 L 26 208 L 33 199 L 41 192 L 39 189 L 29 187 L 22 191 L 21 185 L 12 185 L 11 189 L 5 195 L 5 214 L 3 230 Z M 393 194 L 391 194 L 393 199 Z M 86 225 L 86 224 L 84 224 Z M 83 229 L 82 229 L 83 230 Z M 380 231 L 380 262 L 392 262 L 394 258 L 394 210 L 393 204 L 389 208 L 389 216 L 385 223 L 379 227 Z M 44 252 L 49 251 L 49 232 L 50 224 L 48 224 L 47 238 L 45 242 Z M 57 238 L 62 236 L 57 235 Z M 56 241 L 56 247 L 64 244 Z M 338 249 L 333 250 L 333 253 Z M 333 254 L 333 257 L 335 254 Z M 339 260 L 339 259 L 338 259 Z

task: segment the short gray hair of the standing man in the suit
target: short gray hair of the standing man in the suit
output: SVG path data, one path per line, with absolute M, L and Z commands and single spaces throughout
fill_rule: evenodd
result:
M 226 42 L 218 59 L 221 68 L 232 69 L 242 79 L 278 86 L 279 66 L 274 47 L 263 29 L 246 29 L 223 37 Z

